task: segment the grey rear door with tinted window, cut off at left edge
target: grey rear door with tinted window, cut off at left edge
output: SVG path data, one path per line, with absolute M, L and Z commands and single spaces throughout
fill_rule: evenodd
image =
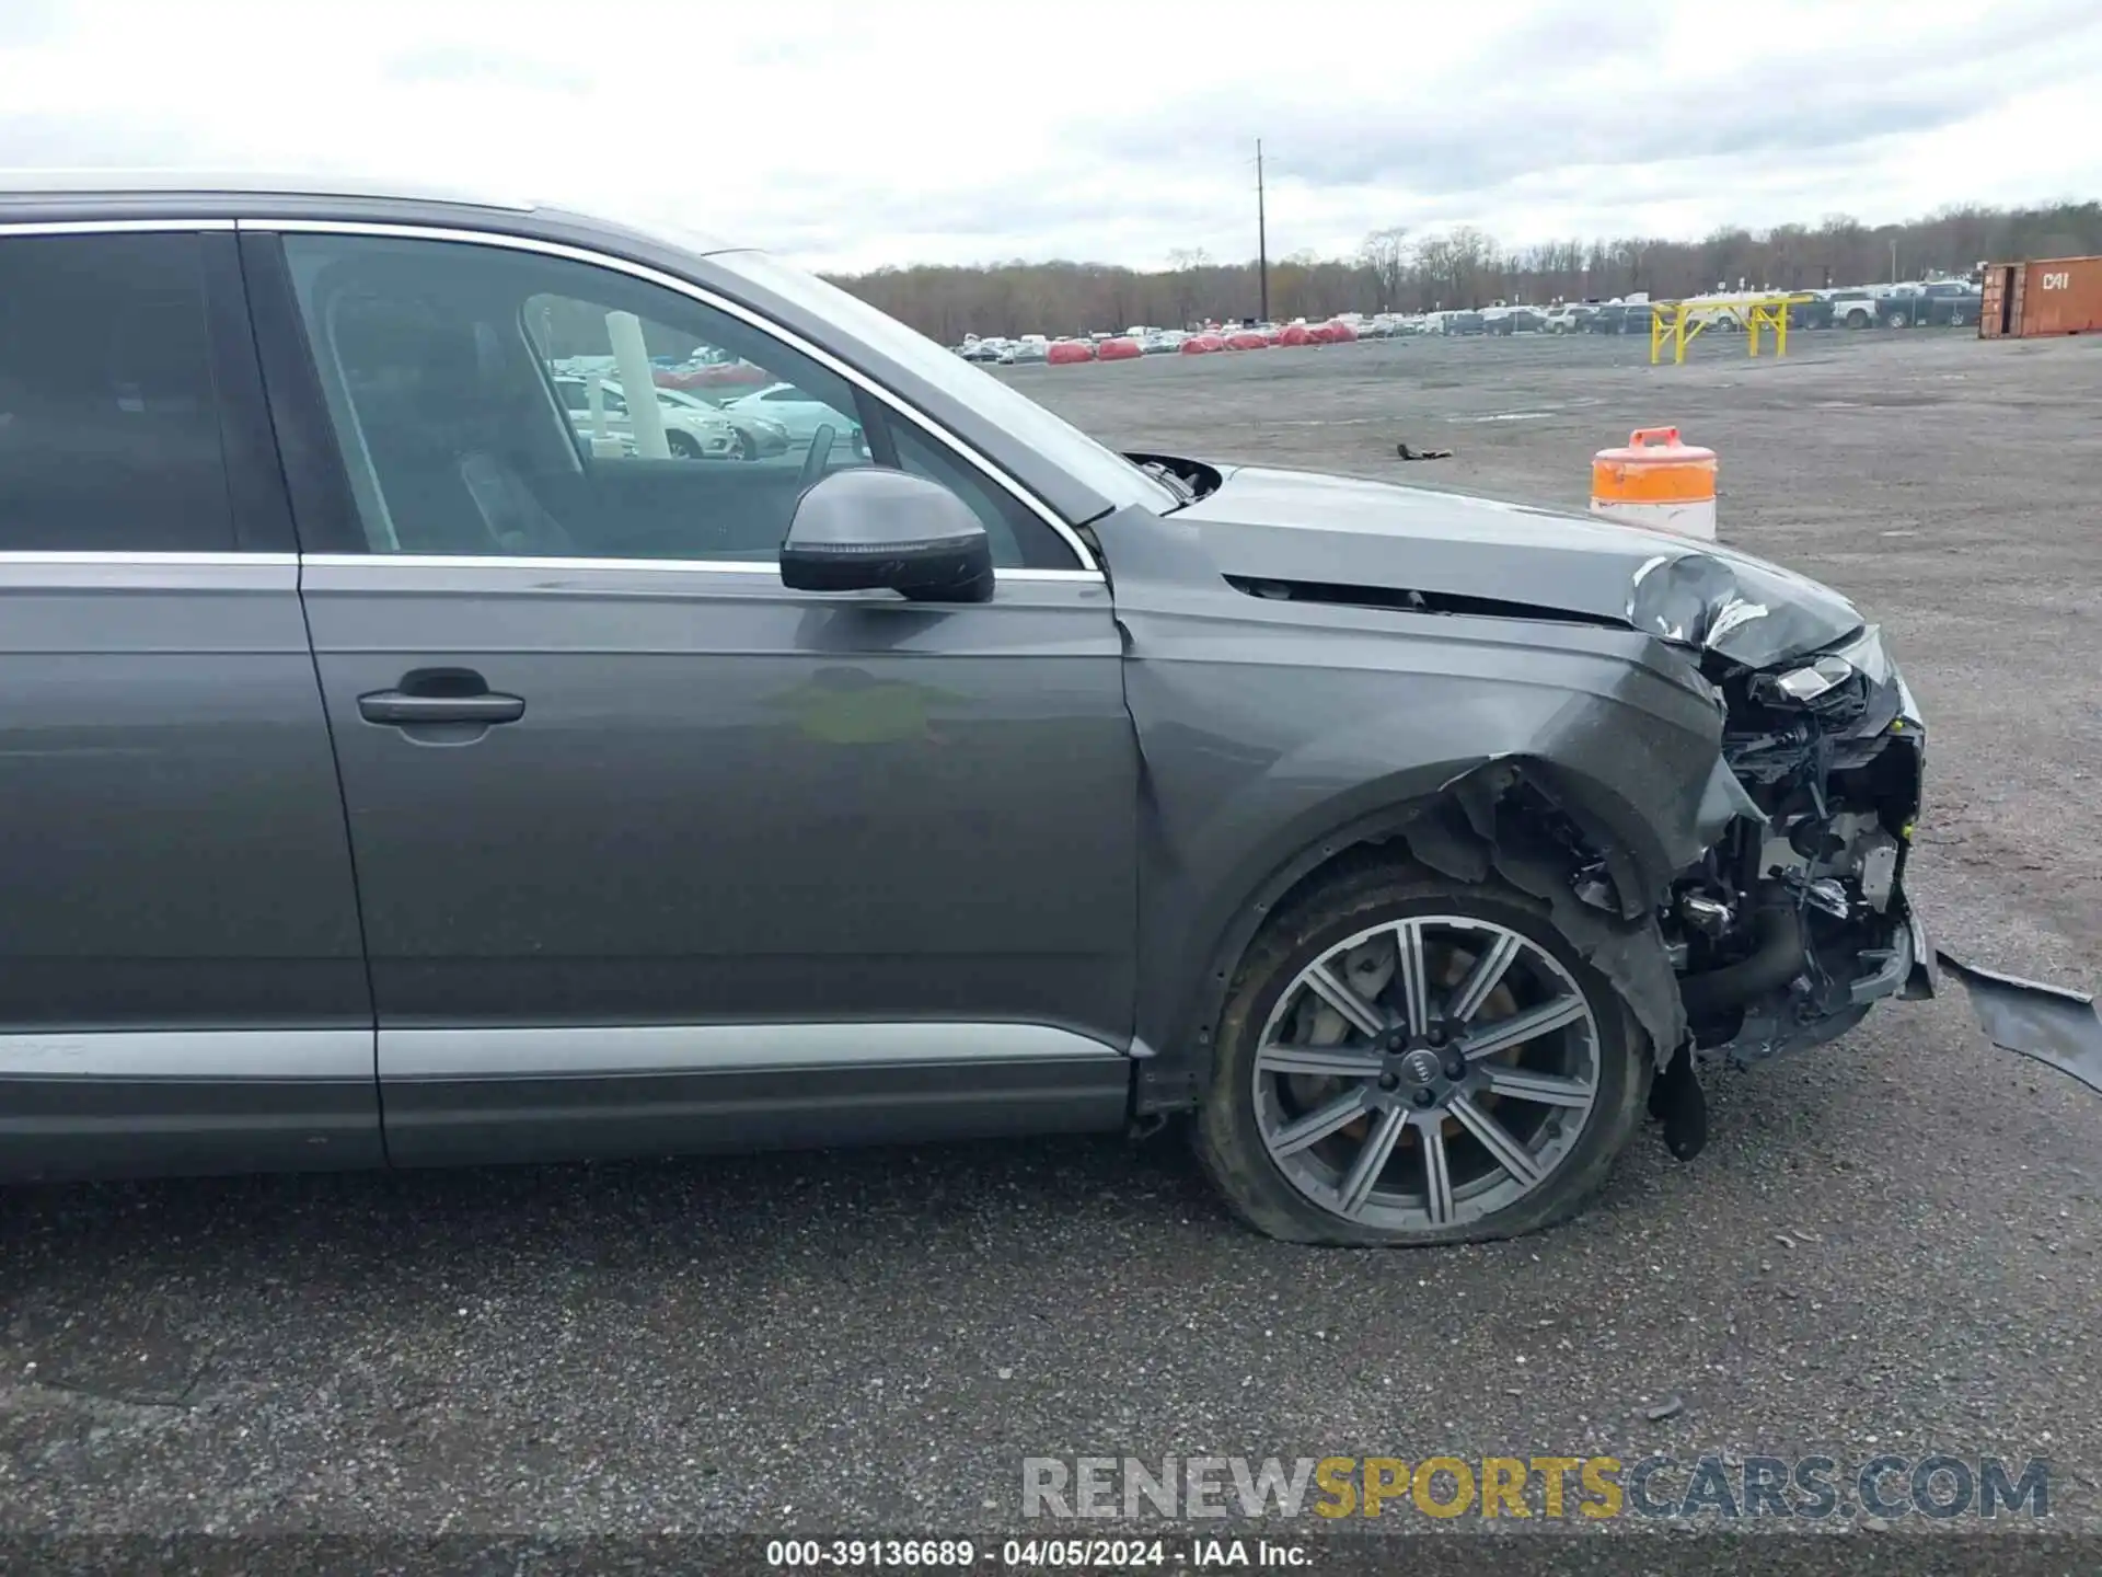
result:
M 380 1159 L 231 225 L 0 225 L 0 1173 Z

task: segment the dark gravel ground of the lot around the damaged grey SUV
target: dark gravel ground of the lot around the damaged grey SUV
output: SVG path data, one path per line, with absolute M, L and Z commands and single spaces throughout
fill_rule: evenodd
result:
M 1120 444 L 1566 507 L 1675 421 L 1724 456 L 1728 540 L 1890 629 L 1936 938 L 2102 980 L 2102 345 L 1806 339 L 1013 378 Z M 1173 1131 L 15 1190 L 0 1529 L 956 1533 L 1017 1527 L 1026 1455 L 1885 1449 L 2049 1457 L 2052 1522 L 2102 1527 L 2102 1100 L 1946 997 L 1715 1081 L 1711 1133 L 1692 1165 L 1646 1133 L 1566 1228 L 1429 1253 L 1259 1241 Z

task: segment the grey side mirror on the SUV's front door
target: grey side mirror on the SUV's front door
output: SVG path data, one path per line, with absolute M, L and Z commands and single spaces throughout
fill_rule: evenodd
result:
M 782 542 L 782 585 L 992 601 L 992 542 L 971 507 L 940 482 L 856 467 L 797 498 Z

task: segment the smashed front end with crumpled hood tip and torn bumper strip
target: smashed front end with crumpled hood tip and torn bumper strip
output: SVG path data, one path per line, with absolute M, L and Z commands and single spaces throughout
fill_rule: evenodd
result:
M 1833 639 L 1848 612 L 1816 582 L 1728 553 L 1658 555 L 1635 574 L 1629 622 L 1698 650 L 1724 706 L 1724 765 L 1751 801 L 1663 917 L 1692 1060 L 1820 1045 L 1883 997 L 1932 997 L 1940 965 L 1993 1045 L 2102 1091 L 2091 997 L 1938 953 L 1911 913 L 1928 732 L 1873 624 Z M 1696 1104 L 1692 1060 L 1667 1077 L 1667 1106 Z

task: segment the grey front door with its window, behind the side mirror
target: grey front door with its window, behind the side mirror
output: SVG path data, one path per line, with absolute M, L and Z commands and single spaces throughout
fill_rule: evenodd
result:
M 305 334 L 353 500 L 303 595 L 389 1154 L 1116 1123 L 1137 755 L 1099 576 L 698 299 L 498 244 L 282 248 L 296 324 L 265 309 L 263 332 Z M 706 351 L 832 421 L 742 463 L 677 458 L 645 421 L 633 452 L 578 439 L 572 368 L 643 387 L 647 357 Z M 298 421 L 298 389 L 273 400 Z M 782 587 L 799 490 L 862 463 L 982 509 L 994 601 Z

